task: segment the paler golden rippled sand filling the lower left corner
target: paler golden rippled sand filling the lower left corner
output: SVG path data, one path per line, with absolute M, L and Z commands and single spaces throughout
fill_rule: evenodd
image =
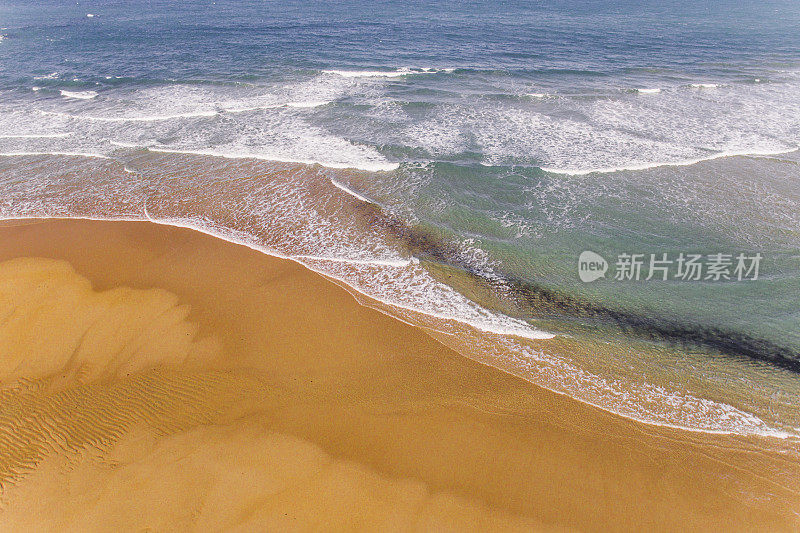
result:
M 0 530 L 536 525 L 274 431 L 262 377 L 189 315 L 65 261 L 0 263 Z

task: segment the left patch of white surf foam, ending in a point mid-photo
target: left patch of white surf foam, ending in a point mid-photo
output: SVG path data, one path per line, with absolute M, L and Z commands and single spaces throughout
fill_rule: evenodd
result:
M 80 132 L 80 139 L 59 145 L 59 151 L 90 152 L 91 143 L 110 142 L 121 148 L 319 164 L 329 168 L 369 171 L 398 168 L 399 163 L 388 161 L 373 146 L 351 142 L 330 132 L 327 126 L 315 125 L 315 115 L 307 113 L 336 100 L 347 87 L 349 84 L 344 80 L 316 77 L 267 94 L 263 87 L 168 86 L 126 92 L 120 98 L 110 90 L 91 113 L 68 112 L 49 103 L 39 113 L 28 113 L 18 119 L 9 116 L 8 122 L 25 120 L 31 123 L 27 125 L 29 129 L 58 124 Z M 238 113 L 256 108 L 276 112 Z M 41 117 L 37 120 L 36 115 L 44 115 L 47 120 Z M 219 120 L 211 120 L 217 116 Z M 0 118 L 0 128 L 3 122 Z M 154 139 L 170 139 L 170 142 L 153 146 Z M 14 147 L 18 148 L 39 150 L 32 146 Z

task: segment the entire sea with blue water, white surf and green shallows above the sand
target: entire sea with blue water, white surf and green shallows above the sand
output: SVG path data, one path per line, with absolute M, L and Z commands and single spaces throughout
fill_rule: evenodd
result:
M 196 228 L 622 416 L 797 438 L 798 27 L 776 0 L 4 1 L 0 218 Z

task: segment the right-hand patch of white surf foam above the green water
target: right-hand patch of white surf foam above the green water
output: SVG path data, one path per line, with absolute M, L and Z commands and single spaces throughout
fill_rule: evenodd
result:
M 553 108 L 447 102 L 421 119 L 405 120 L 392 137 L 373 135 L 383 135 L 382 144 L 422 149 L 425 157 L 458 160 L 477 152 L 486 165 L 537 166 L 563 174 L 685 166 L 794 150 L 800 132 L 796 95 L 797 84 L 785 83 L 663 90 L 657 98 L 561 94 Z M 386 115 L 403 124 L 402 115 Z

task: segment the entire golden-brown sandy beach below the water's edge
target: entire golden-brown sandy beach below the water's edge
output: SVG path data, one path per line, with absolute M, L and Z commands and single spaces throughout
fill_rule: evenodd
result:
M 291 261 L 0 226 L 0 529 L 800 528 L 796 443 L 633 422 Z

